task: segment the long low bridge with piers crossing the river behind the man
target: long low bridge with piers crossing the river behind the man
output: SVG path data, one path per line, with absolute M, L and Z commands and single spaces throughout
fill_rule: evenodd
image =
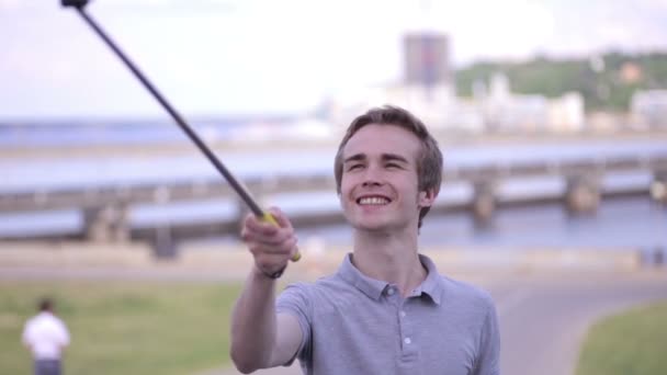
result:
M 443 183 L 470 184 L 473 197 L 470 209 L 481 223 L 489 220 L 498 204 L 497 186 L 506 180 L 524 178 L 562 178 L 565 181 L 563 203 L 572 212 L 590 212 L 599 205 L 601 179 L 609 173 L 644 171 L 652 173 L 651 186 L 643 190 L 658 201 L 667 203 L 667 152 L 654 156 L 577 158 L 561 161 L 534 160 L 512 163 L 454 166 L 445 164 Z M 299 192 L 334 192 L 330 172 L 312 175 L 271 175 L 245 181 L 248 190 L 260 200 L 263 196 Z M 126 240 L 128 238 L 161 238 L 171 243 L 173 238 L 188 234 L 206 235 L 237 230 L 240 217 L 230 223 L 180 224 L 168 229 L 133 229 L 128 212 L 133 205 L 161 205 L 184 201 L 223 198 L 236 201 L 234 191 L 221 179 L 174 181 L 162 183 L 134 183 L 109 186 L 76 186 L 41 189 L 36 191 L 0 193 L 0 213 L 30 213 L 54 209 L 82 212 L 82 237 L 95 241 Z M 245 209 L 239 202 L 238 215 Z M 303 217 L 302 224 L 324 224 L 340 219 L 340 213 L 319 213 Z M 301 217 L 294 218 L 301 221 Z M 234 223 L 231 223 L 234 221 Z M 159 236 L 158 236 L 159 235 Z M 163 240 L 167 238 L 168 240 Z

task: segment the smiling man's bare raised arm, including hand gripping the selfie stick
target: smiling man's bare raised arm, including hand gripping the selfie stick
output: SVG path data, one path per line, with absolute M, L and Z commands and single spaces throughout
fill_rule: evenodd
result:
M 271 214 L 280 227 L 249 215 L 241 230 L 255 265 L 231 314 L 231 360 L 245 374 L 285 364 L 302 341 L 297 319 L 275 314 L 276 281 L 268 275 L 287 264 L 296 251 L 296 237 L 284 215 Z

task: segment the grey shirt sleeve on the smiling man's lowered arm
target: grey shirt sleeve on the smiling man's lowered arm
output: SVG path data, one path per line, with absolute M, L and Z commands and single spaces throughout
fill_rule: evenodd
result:
M 476 361 L 475 375 L 500 374 L 500 332 L 496 307 L 489 298 L 489 307 L 482 328 L 479 355 Z

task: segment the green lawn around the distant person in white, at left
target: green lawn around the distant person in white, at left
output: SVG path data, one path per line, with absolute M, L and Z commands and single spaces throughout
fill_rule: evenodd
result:
M 65 372 L 192 374 L 229 363 L 229 312 L 240 285 L 0 282 L 0 374 L 30 374 L 21 345 L 36 300 L 52 296 L 72 337 Z

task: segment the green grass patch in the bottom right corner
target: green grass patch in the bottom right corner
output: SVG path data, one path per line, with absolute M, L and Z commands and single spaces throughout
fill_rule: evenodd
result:
M 667 302 L 644 306 L 595 325 L 577 375 L 667 374 Z

